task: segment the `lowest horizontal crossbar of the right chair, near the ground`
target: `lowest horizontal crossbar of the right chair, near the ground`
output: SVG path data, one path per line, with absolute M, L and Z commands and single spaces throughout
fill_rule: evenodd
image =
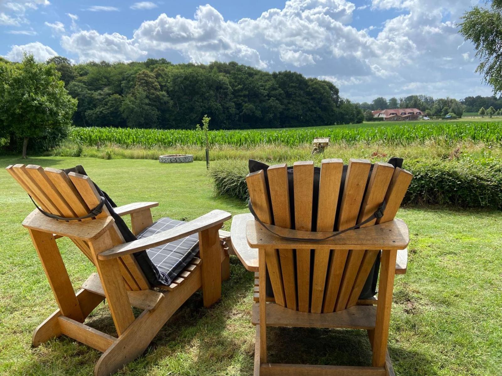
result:
M 383 367 L 265 363 L 260 376 L 386 376 Z

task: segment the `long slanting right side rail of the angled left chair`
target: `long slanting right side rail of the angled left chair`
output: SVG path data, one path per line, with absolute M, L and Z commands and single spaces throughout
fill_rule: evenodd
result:
M 129 325 L 101 355 L 94 367 L 94 375 L 108 376 L 140 356 L 173 313 L 200 287 L 201 270 L 197 268 L 176 290 L 166 292 L 155 309 L 143 311 Z

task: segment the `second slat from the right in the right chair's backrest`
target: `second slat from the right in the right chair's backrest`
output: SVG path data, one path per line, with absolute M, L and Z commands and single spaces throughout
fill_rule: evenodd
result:
M 373 165 L 373 171 L 371 172 L 371 177 L 369 178 L 368 187 L 366 189 L 366 194 L 364 195 L 364 200 L 362 201 L 361 211 L 359 213 L 357 223 L 360 223 L 370 217 L 382 205 L 393 173 L 394 166 L 392 164 L 376 162 Z M 362 225 L 361 227 L 373 226 L 375 222 L 376 219 Z M 335 311 L 340 311 L 348 306 L 347 303 L 349 296 L 352 292 L 352 288 L 354 287 L 354 282 L 357 277 L 359 267 L 361 266 L 363 256 L 364 253 L 362 252 L 349 251 L 347 262 L 345 264 L 345 270 L 340 283 L 338 298 L 336 300 Z M 364 277 L 364 275 L 360 273 L 360 277 L 367 278 L 367 274 Z M 351 302 L 351 305 L 354 304 Z

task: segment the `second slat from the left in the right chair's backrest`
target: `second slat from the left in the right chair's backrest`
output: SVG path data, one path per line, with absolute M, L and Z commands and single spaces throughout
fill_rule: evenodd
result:
M 267 168 L 267 176 L 269 179 L 274 224 L 285 229 L 291 229 L 291 208 L 286 163 L 275 164 Z M 266 248 L 268 249 L 268 247 Z M 294 255 L 295 251 L 293 249 L 279 250 L 279 257 L 281 260 L 280 275 L 282 276 L 282 283 L 284 284 L 286 301 L 283 302 L 282 299 L 276 297 L 276 302 L 280 305 L 286 305 L 290 309 L 296 309 L 297 307 Z M 268 260 L 269 255 L 267 254 L 267 262 L 269 262 Z M 270 274 L 271 267 L 269 265 L 268 267 Z

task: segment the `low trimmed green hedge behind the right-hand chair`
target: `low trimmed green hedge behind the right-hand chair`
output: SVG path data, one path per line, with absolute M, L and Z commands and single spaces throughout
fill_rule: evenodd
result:
M 502 161 L 405 160 L 403 167 L 414 175 L 404 204 L 502 209 Z M 237 159 L 212 162 L 209 170 L 220 195 L 242 201 L 247 173 L 247 161 Z

